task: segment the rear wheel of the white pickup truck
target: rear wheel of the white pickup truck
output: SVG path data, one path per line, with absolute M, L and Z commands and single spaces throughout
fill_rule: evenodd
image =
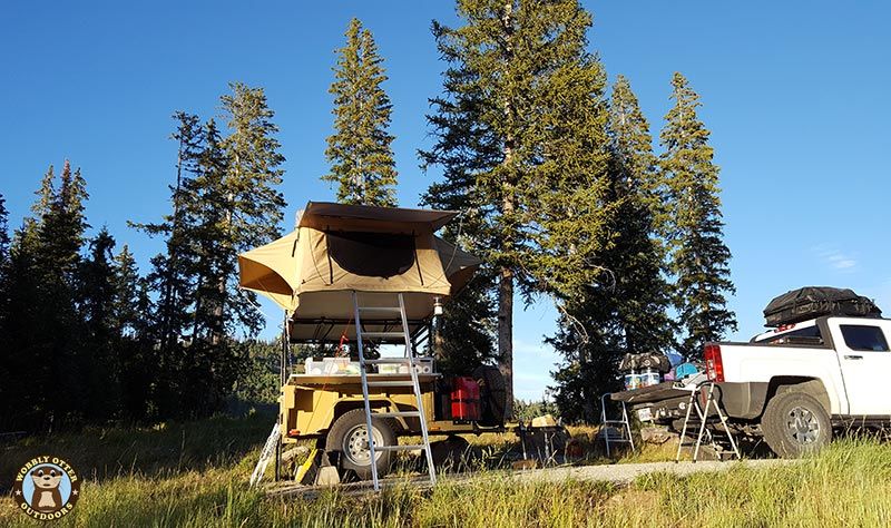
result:
M 764 410 L 761 428 L 767 446 L 782 458 L 800 458 L 832 440 L 826 410 L 804 392 L 781 392 L 773 397 Z

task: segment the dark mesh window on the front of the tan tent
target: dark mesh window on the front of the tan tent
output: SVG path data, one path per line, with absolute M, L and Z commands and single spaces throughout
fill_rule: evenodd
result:
M 329 232 L 331 258 L 344 271 L 389 278 L 414 265 L 414 236 L 390 233 Z

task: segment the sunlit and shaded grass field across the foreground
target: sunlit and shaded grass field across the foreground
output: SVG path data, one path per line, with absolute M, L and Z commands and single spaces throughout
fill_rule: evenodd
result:
M 433 490 L 405 485 L 352 497 L 332 490 L 305 500 L 247 489 L 270 427 L 270 417 L 219 417 L 28 439 L 0 447 L 0 486 L 8 489 L 33 454 L 61 456 L 87 481 L 77 507 L 58 524 L 85 527 L 891 526 L 891 444 L 868 440 L 834 443 L 800 465 L 652 475 L 624 488 L 520 483 L 489 470 L 470 482 L 443 479 Z M 486 443 L 498 449 L 508 440 Z M 666 454 L 654 453 L 635 460 Z M 31 526 L 8 495 L 0 499 L 0 525 Z

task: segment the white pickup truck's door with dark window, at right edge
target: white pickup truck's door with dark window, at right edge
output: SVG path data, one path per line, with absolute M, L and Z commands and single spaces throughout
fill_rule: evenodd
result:
M 835 325 L 833 325 L 835 326 Z M 891 414 L 891 349 L 884 322 L 840 321 L 832 329 L 839 354 L 849 414 L 889 417 Z

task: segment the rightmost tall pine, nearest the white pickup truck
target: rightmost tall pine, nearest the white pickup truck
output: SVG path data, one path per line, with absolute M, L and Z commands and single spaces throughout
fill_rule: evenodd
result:
M 674 303 L 686 335 L 679 352 L 692 356 L 708 341 L 719 341 L 736 329 L 726 294 L 735 293 L 730 278 L 731 252 L 724 244 L 718 197 L 718 167 L 708 145 L 709 131 L 698 119 L 699 96 L 687 79 L 672 79 L 674 107 L 665 116 L 660 167 L 670 201 L 670 271 Z

